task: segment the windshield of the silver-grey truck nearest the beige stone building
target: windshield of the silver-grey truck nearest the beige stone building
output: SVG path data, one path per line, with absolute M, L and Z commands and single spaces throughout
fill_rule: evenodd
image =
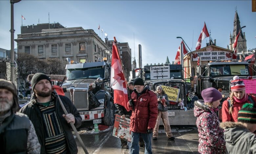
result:
M 67 69 L 67 80 L 75 79 L 97 79 L 98 77 L 104 78 L 104 67 L 89 67 L 89 68 L 75 68 Z

